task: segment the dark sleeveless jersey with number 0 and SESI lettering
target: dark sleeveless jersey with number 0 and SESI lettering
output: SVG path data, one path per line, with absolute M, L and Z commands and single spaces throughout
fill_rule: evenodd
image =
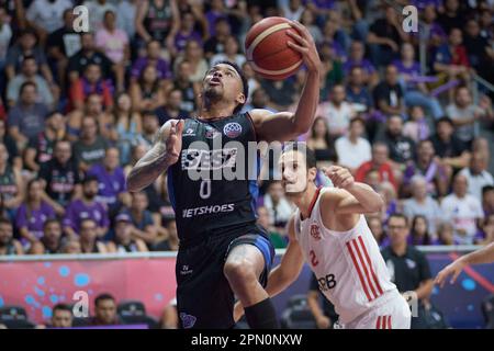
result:
M 168 169 L 181 244 L 255 225 L 260 165 L 250 115 L 184 123 L 179 160 Z

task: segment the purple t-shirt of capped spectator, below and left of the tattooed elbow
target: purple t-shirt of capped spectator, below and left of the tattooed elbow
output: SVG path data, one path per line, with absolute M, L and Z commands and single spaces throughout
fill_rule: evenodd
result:
M 71 227 L 79 234 L 80 223 L 86 218 L 94 219 L 99 227 L 108 228 L 110 226 L 108 211 L 102 203 L 93 202 L 91 205 L 88 205 L 82 200 L 72 201 L 68 205 L 63 225 L 64 227 Z

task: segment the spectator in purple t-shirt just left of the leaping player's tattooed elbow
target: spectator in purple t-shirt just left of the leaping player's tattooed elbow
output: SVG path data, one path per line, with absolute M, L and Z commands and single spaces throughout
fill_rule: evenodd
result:
M 98 195 L 96 200 L 104 204 L 113 213 L 122 204 L 130 205 L 130 194 L 126 192 L 125 176 L 120 166 L 120 154 L 115 147 L 105 149 L 101 163 L 94 163 L 88 170 L 88 176 L 98 180 Z

